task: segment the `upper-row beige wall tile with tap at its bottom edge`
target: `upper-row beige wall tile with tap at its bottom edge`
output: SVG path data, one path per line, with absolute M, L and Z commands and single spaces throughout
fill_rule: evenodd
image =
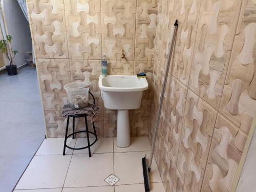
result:
M 108 59 L 134 59 L 136 0 L 101 0 L 102 52 Z

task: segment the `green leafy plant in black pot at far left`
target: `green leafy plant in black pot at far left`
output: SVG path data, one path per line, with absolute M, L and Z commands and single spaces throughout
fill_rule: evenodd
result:
M 11 40 L 12 36 L 7 35 L 6 39 L 0 40 L 0 49 L 6 58 L 9 60 L 10 65 L 6 66 L 8 75 L 17 75 L 17 66 L 14 63 L 14 57 L 18 53 L 16 50 L 12 50 Z

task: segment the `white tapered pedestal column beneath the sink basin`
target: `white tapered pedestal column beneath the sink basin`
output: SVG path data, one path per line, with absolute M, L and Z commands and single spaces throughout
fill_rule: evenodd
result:
M 129 110 L 117 110 L 117 138 L 116 145 L 118 147 L 129 147 L 130 138 L 130 122 Z

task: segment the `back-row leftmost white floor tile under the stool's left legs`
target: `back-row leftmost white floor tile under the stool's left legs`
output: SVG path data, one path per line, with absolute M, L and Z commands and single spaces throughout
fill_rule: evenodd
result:
M 74 147 L 76 139 L 67 139 L 67 145 Z M 50 138 L 45 139 L 38 149 L 36 155 L 62 155 L 64 146 L 64 138 Z M 72 154 L 73 150 L 66 147 L 66 154 Z

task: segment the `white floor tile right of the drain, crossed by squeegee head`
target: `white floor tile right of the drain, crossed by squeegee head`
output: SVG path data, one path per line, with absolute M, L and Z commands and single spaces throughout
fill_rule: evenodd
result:
M 116 185 L 144 183 L 141 159 L 150 152 L 115 153 L 115 175 L 120 179 Z M 153 159 L 150 182 L 161 182 L 155 159 Z

